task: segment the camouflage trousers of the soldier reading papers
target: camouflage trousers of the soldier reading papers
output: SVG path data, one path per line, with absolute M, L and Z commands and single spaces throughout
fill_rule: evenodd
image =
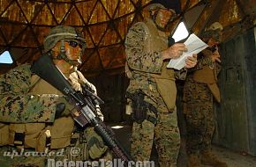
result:
M 168 112 L 166 105 L 155 106 L 158 110 L 157 124 L 144 120 L 132 126 L 131 154 L 136 161 L 149 161 L 153 143 L 161 167 L 177 166 L 177 155 L 180 146 L 180 134 L 177 127 L 177 112 Z M 154 113 L 148 112 L 150 116 Z

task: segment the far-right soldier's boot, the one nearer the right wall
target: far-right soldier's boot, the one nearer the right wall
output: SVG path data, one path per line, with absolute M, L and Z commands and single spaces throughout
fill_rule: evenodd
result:
M 211 151 L 204 151 L 201 154 L 201 163 L 215 167 L 227 167 L 227 163 L 220 161 Z

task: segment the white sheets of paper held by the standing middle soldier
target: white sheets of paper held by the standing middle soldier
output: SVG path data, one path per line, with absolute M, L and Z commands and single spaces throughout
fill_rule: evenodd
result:
M 185 40 L 184 45 L 187 48 L 187 52 L 184 52 L 180 57 L 176 59 L 171 59 L 167 68 L 182 69 L 185 66 L 185 59 L 192 54 L 198 54 L 200 51 L 204 50 L 207 46 L 205 42 L 200 40 L 194 33 L 192 33 L 187 40 Z

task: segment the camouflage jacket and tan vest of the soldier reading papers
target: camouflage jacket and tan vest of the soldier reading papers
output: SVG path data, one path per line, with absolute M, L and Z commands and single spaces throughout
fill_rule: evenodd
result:
M 153 20 L 146 19 L 130 28 L 125 39 L 125 54 L 129 67 L 126 66 L 126 69 L 130 69 L 132 74 L 127 91 L 141 89 L 154 103 L 159 103 L 160 94 L 155 76 L 162 76 L 162 71 L 165 70 L 168 73 L 169 82 L 173 84 L 175 82 L 176 72 L 174 69 L 166 69 L 168 62 L 162 61 L 162 50 L 167 47 L 168 36 L 161 36 L 158 33 Z M 174 89 L 176 96 L 176 88 Z

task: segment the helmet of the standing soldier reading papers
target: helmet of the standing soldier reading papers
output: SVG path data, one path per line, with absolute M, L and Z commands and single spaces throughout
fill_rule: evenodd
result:
M 156 9 L 172 9 L 179 14 L 181 12 L 180 0 L 152 0 L 146 8 L 148 11 Z

